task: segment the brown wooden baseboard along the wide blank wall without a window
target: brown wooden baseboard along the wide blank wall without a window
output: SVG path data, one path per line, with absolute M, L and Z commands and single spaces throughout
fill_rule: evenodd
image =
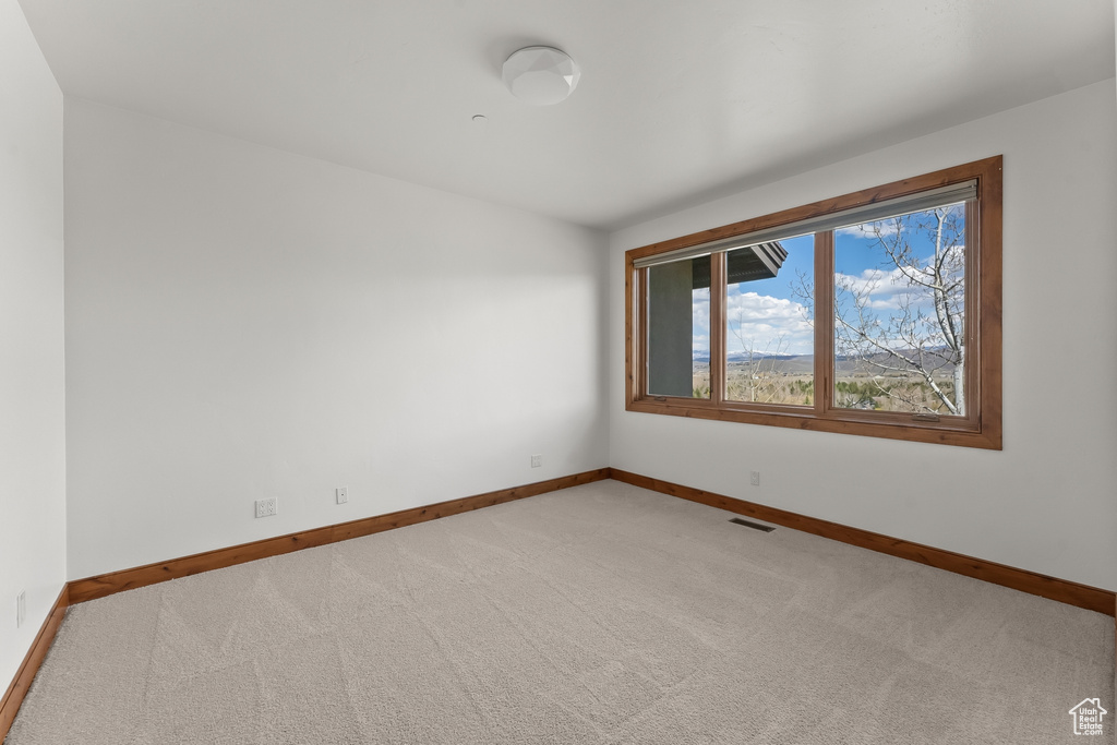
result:
M 69 602 L 83 603 L 87 600 L 104 598 L 157 582 L 166 582 L 168 580 L 190 576 L 191 574 L 199 574 L 210 570 L 244 564 L 257 558 L 289 554 L 293 551 L 323 546 L 363 535 L 372 535 L 382 531 L 414 525 L 439 517 L 449 517 L 450 515 L 458 515 L 481 507 L 491 507 L 505 502 L 533 497 L 538 494 L 556 491 L 607 478 L 609 478 L 609 469 L 599 468 L 592 471 L 574 474 L 573 476 L 553 478 L 547 481 L 537 481 L 510 489 L 488 491 L 461 499 L 450 499 L 449 502 L 440 502 L 424 507 L 412 507 L 411 509 L 402 509 L 386 515 L 376 515 L 375 517 L 365 517 L 350 523 L 327 525 L 275 538 L 264 538 L 254 543 L 245 543 L 239 546 L 217 548 L 216 551 L 207 551 L 193 554 L 192 556 L 147 564 L 146 566 L 136 566 L 134 569 L 121 570 L 120 572 L 99 574 L 84 580 L 74 580 L 69 583 Z

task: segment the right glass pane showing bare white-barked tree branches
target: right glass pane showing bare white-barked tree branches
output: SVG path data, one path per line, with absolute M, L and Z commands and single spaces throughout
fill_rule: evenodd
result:
M 834 405 L 965 413 L 965 203 L 834 231 Z

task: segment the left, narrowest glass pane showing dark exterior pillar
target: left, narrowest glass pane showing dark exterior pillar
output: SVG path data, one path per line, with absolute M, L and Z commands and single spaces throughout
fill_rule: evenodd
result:
M 648 393 L 709 398 L 709 257 L 648 268 Z

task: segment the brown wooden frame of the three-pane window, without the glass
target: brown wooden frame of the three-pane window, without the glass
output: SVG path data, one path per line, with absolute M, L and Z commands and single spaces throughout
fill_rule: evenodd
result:
M 1001 155 L 987 157 L 627 251 L 624 255 L 626 409 L 675 417 L 792 427 L 991 450 L 1002 449 L 1002 168 Z M 813 405 L 750 403 L 725 399 L 724 252 L 714 254 L 710 261 L 709 398 L 648 394 L 648 344 L 645 328 L 645 319 L 648 317 L 648 269 L 637 268 L 634 261 L 971 180 L 977 182 L 977 198 L 967 204 L 966 212 L 967 413 L 964 417 L 944 416 L 938 421 L 920 421 L 905 412 L 833 407 L 833 231 L 815 233 Z M 977 246 L 976 251 L 971 250 L 974 242 Z

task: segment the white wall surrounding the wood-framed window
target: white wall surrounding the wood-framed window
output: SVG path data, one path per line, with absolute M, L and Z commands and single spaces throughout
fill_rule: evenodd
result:
M 1114 97 L 1107 80 L 614 233 L 610 464 L 1117 589 Z M 1003 451 L 624 411 L 624 250 L 999 153 Z

